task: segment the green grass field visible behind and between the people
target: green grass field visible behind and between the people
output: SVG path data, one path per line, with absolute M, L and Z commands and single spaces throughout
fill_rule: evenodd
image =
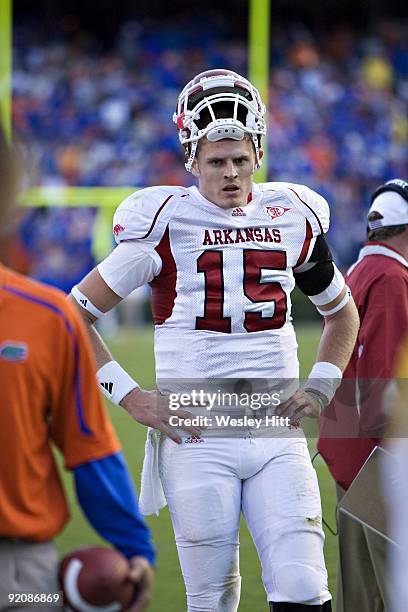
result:
M 313 364 L 319 335 L 319 325 L 297 326 L 302 375 L 306 375 Z M 121 330 L 115 339 L 109 342 L 109 345 L 117 360 L 134 375 L 141 386 L 148 389 L 154 388 L 153 339 L 152 331 L 149 328 L 142 328 L 137 331 Z M 132 421 L 121 409 L 110 406 L 109 411 L 121 439 L 134 481 L 139 487 L 145 429 Z M 313 437 L 310 438 L 309 448 L 313 455 L 315 449 L 315 439 Z M 334 526 L 333 482 L 320 458 L 315 461 L 314 465 L 319 476 L 323 515 L 329 524 Z M 66 474 L 65 482 L 70 499 L 72 520 L 57 539 L 57 546 L 61 554 L 79 546 L 102 543 L 82 516 L 75 500 L 69 474 Z M 158 551 L 155 591 L 150 610 L 151 612 L 182 612 L 185 610 L 184 587 L 167 509 L 163 510 L 158 518 L 149 518 L 148 522 L 152 528 Z M 326 533 L 325 557 L 329 572 L 330 590 L 334 595 L 337 541 L 330 532 Z M 255 547 L 244 523 L 241 527 L 241 574 L 243 580 L 240 611 L 266 612 L 267 605 L 261 582 L 260 565 Z

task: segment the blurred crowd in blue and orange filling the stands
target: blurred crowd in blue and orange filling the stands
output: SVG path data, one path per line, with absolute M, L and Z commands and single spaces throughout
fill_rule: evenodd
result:
M 57 30 L 45 38 L 18 26 L 13 120 L 32 145 L 35 182 L 191 184 L 172 113 L 196 73 L 224 66 L 247 74 L 247 41 L 225 27 L 204 19 L 189 24 L 187 17 L 177 24 L 170 17 L 129 21 L 106 45 L 78 27 L 75 35 Z M 344 25 L 318 36 L 299 24 L 272 28 L 268 177 L 305 183 L 328 199 L 330 243 L 343 268 L 364 237 L 368 194 L 387 179 L 407 176 L 407 41 L 407 24 L 391 21 L 364 35 Z M 47 215 L 54 228 L 39 229 L 36 240 L 24 231 L 32 220 L 22 225 L 34 275 L 52 268 L 44 262 L 56 256 L 50 241 L 61 248 L 80 235 L 89 247 L 93 223 L 86 210 L 29 215 L 36 220 L 32 228 Z M 55 228 L 67 223 L 70 231 Z M 41 235 L 47 243 L 42 255 Z M 43 260 L 35 264 L 35 258 Z

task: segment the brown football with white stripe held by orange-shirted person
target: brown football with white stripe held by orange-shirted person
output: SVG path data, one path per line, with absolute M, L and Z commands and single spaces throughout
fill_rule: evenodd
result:
M 59 567 L 64 603 L 75 612 L 125 610 L 135 597 L 128 573 L 129 562 L 117 550 L 98 546 L 74 550 Z

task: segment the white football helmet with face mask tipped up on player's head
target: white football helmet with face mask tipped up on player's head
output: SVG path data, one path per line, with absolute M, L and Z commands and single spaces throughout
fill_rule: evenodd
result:
M 242 140 L 245 134 L 252 137 L 260 168 L 265 110 L 258 90 L 236 72 L 220 68 L 198 74 L 179 95 L 173 115 L 180 142 L 188 152 L 186 169 L 191 172 L 200 138 Z

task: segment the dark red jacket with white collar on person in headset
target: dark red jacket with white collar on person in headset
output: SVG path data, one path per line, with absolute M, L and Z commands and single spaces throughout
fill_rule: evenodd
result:
M 367 243 L 347 275 L 360 330 L 344 380 L 320 419 L 317 448 L 347 489 L 380 441 L 382 391 L 408 333 L 408 262 L 383 242 Z

